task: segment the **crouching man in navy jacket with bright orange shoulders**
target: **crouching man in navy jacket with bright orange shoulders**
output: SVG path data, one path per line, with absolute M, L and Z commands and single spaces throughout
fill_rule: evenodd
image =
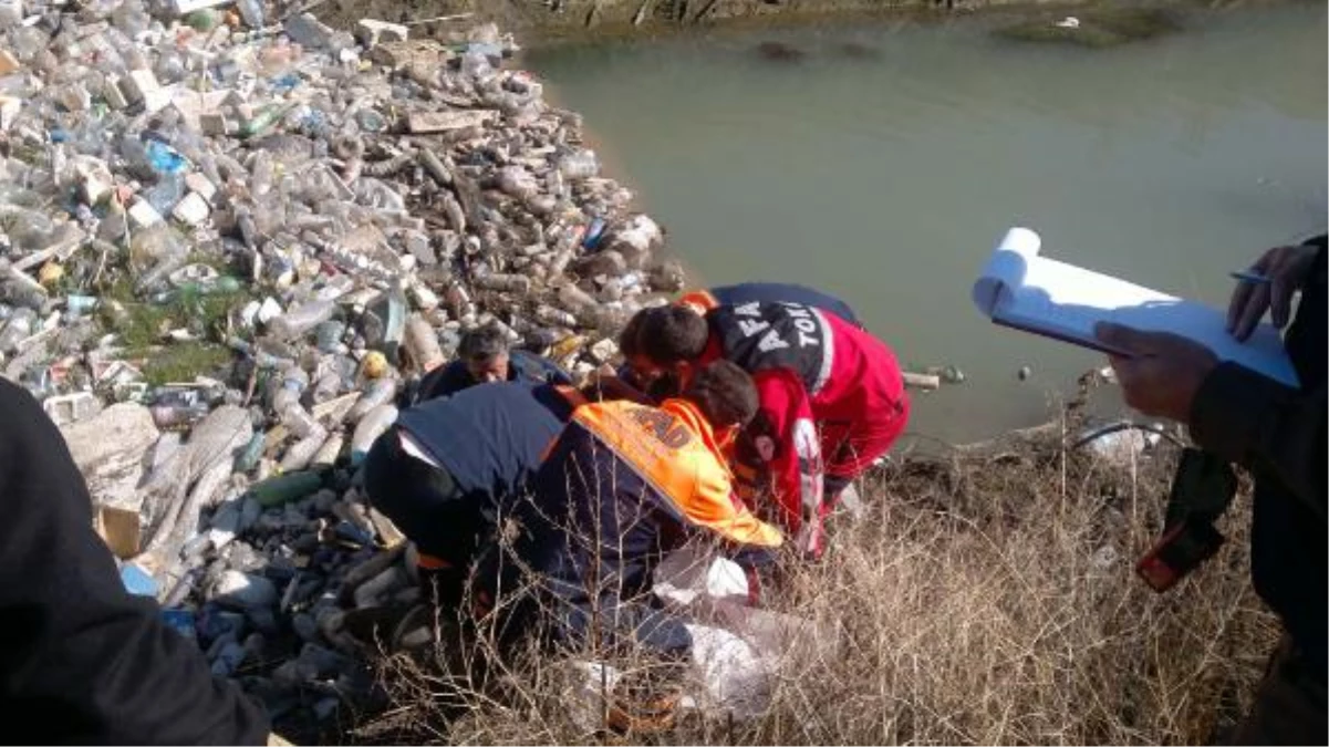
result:
M 783 542 L 738 500 L 723 456 L 756 407 L 751 377 L 716 362 L 659 407 L 577 408 L 534 494 L 508 517 L 516 538 L 492 546 L 476 574 L 482 607 L 502 615 L 502 638 L 538 627 L 556 643 L 591 645 L 595 655 L 645 646 L 686 658 L 683 621 L 651 597 L 663 556 L 712 542 L 755 580 Z

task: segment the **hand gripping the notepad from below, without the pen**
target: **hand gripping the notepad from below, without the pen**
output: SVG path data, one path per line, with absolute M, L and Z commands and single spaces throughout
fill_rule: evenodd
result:
M 1103 344 L 1128 354 L 1108 356 L 1126 404 L 1144 415 L 1191 420 L 1195 393 L 1219 364 L 1209 348 L 1177 335 L 1120 324 L 1102 323 L 1094 334 Z

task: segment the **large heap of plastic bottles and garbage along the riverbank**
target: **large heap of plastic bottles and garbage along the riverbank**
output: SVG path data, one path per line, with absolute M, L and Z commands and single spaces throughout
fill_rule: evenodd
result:
M 481 324 L 586 374 L 682 287 L 513 52 L 260 0 L 0 0 L 3 374 L 126 585 L 276 718 L 363 693 L 339 611 L 413 593 L 354 485 L 400 392 Z

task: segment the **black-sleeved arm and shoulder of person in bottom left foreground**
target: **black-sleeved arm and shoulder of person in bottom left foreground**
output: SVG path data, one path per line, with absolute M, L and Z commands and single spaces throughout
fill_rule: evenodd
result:
M 0 381 L 0 702 L 44 743 L 260 746 L 263 712 L 125 591 L 58 431 Z M 27 726 L 27 728 L 24 728 Z

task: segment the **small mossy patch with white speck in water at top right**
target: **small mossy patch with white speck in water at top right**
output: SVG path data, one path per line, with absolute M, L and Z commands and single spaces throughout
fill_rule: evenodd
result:
M 997 29 L 997 36 L 1013 41 L 1074 44 L 1091 49 L 1120 47 L 1181 31 L 1171 13 L 1155 8 L 1119 8 L 1074 13 L 1078 25 L 1065 24 L 1065 13 L 1039 15 Z

